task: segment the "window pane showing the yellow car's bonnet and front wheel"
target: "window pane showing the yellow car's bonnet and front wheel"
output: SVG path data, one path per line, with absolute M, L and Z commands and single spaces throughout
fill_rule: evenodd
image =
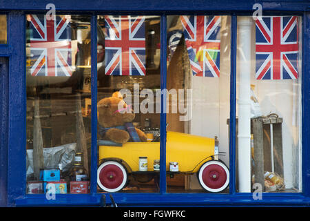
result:
M 167 17 L 170 193 L 229 192 L 230 23 L 227 16 Z

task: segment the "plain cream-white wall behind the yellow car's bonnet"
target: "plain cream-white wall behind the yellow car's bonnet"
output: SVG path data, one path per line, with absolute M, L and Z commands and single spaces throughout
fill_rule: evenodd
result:
M 230 96 L 230 18 L 222 17 L 220 39 L 220 77 L 192 77 L 193 117 L 190 132 L 206 137 L 218 136 L 220 156 L 229 166 L 229 118 Z

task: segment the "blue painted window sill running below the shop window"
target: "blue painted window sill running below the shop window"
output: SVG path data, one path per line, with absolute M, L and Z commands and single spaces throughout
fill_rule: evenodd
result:
M 15 206 L 103 206 L 103 194 L 56 195 L 47 200 L 45 194 L 26 195 L 15 200 Z M 118 206 L 309 206 L 310 198 L 302 193 L 262 193 L 254 200 L 252 193 L 113 193 Z M 112 204 L 109 194 L 106 204 Z

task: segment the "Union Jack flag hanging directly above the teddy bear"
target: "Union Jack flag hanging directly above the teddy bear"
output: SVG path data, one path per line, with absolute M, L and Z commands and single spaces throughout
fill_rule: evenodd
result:
M 105 75 L 145 75 L 145 17 L 105 16 Z

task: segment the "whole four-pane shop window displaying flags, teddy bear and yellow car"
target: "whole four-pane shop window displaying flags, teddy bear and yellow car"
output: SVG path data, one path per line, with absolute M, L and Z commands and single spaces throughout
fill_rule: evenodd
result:
M 98 193 L 158 192 L 162 95 L 167 192 L 229 193 L 231 17 L 167 16 L 161 79 L 161 17 L 99 15 L 97 131 L 91 131 L 90 17 L 26 19 L 28 194 L 90 193 L 91 172 Z M 297 16 L 238 17 L 238 192 L 259 185 L 302 191 L 301 36 Z M 91 133 L 97 171 L 90 171 Z

